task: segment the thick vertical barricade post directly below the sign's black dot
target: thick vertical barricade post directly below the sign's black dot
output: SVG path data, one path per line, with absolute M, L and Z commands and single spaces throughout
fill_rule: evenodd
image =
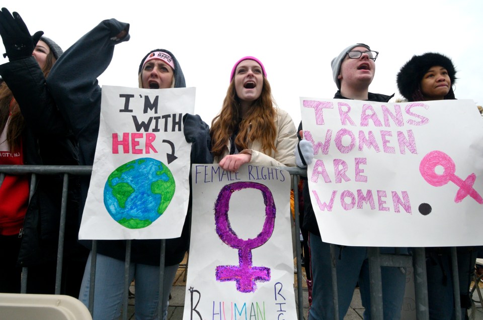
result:
M 425 249 L 413 248 L 413 253 L 416 317 L 418 320 L 429 320 L 428 278 L 426 277 Z

